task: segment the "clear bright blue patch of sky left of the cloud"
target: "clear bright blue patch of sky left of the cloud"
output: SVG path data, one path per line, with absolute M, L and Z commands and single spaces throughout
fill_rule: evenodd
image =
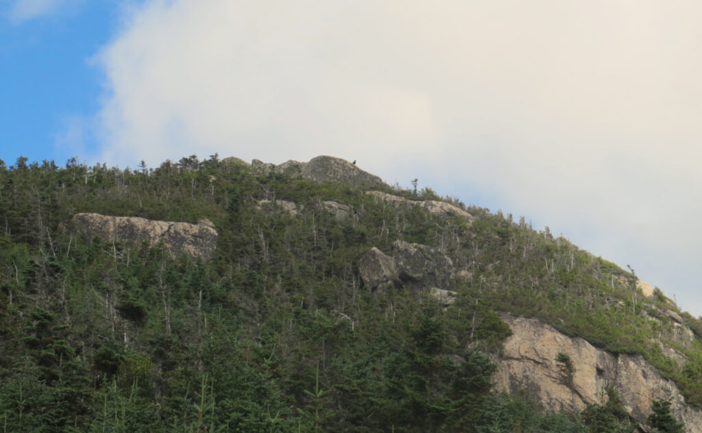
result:
M 67 125 L 100 109 L 105 76 L 91 59 L 114 34 L 118 5 L 85 1 L 26 18 L 0 5 L 0 158 L 65 163 L 81 150 L 60 146 Z

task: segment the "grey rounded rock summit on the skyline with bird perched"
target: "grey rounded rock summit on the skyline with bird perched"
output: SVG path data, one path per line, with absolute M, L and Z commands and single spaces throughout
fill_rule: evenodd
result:
M 343 182 L 353 186 L 385 185 L 380 177 L 361 170 L 357 165 L 353 165 L 347 160 L 333 156 L 317 156 L 307 163 L 288 160 L 279 165 L 263 163 L 263 161 L 255 159 L 251 161 L 251 167 L 262 176 L 279 173 L 318 182 Z

